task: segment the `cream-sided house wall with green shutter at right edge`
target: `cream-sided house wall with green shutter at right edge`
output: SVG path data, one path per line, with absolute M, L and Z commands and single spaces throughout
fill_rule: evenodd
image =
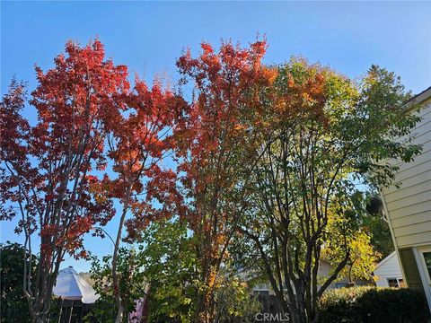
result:
M 422 153 L 414 162 L 388 161 L 400 168 L 395 181 L 401 186 L 383 188 L 381 196 L 404 281 L 426 294 L 431 310 L 431 87 L 407 104 L 420 107 L 415 113 L 421 121 L 411 135 Z

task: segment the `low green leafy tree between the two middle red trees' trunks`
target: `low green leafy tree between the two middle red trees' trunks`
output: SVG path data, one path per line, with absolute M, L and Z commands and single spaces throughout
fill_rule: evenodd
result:
M 139 247 L 145 278 L 151 285 L 151 322 L 189 322 L 193 298 L 201 288 L 198 280 L 195 238 L 186 223 L 175 218 L 152 223 L 143 233 Z

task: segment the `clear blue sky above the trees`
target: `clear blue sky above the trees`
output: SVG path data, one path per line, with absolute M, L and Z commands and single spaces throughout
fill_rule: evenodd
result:
M 266 34 L 266 62 L 292 55 L 319 61 L 351 77 L 371 64 L 395 71 L 409 90 L 431 85 L 430 2 L 3 2 L 1 92 L 13 75 L 35 86 L 34 64 L 47 69 L 67 39 L 85 44 L 99 36 L 108 57 L 150 80 L 155 73 L 178 78 L 181 50 L 202 40 L 246 44 Z M 29 118 L 34 114 L 26 110 Z M 117 221 L 108 225 L 114 233 Z M 1 223 L 1 240 L 18 240 L 14 223 Z M 110 240 L 88 238 L 98 255 Z M 65 266 L 88 270 L 84 261 Z

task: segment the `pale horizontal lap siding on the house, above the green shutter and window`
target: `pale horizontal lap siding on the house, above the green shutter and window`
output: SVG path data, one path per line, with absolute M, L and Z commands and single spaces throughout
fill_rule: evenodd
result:
M 400 248 L 431 243 L 431 105 L 422 109 L 423 118 L 412 134 L 422 153 L 413 162 L 391 160 L 400 170 L 394 183 L 400 188 L 383 188 L 393 234 Z

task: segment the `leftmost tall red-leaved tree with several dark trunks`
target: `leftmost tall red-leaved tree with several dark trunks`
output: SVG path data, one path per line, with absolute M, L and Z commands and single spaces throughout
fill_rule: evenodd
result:
M 36 72 L 34 126 L 22 116 L 22 84 L 13 81 L 1 102 L 0 198 L 2 220 L 21 217 L 16 231 L 24 233 L 26 259 L 40 240 L 37 269 L 23 264 L 23 290 L 32 321 L 45 322 L 65 255 L 84 257 L 84 233 L 113 215 L 93 170 L 106 166 L 103 120 L 123 105 L 128 71 L 105 60 L 94 40 L 83 48 L 67 42 L 54 68 Z

